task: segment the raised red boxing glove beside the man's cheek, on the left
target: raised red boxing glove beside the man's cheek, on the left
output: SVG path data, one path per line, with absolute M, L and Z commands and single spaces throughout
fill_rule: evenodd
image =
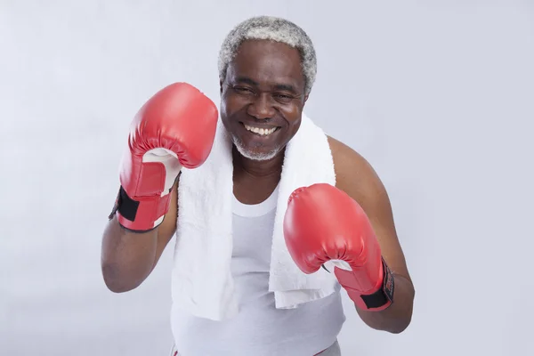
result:
M 142 106 L 120 167 L 118 223 L 142 232 L 163 222 L 182 166 L 202 165 L 212 150 L 218 117 L 214 102 L 186 83 L 166 86 Z

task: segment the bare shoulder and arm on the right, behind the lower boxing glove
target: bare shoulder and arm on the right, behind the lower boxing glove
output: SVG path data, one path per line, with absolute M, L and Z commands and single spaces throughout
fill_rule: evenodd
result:
M 397 237 L 387 192 L 365 158 L 341 142 L 332 138 L 328 141 L 336 166 L 336 186 L 356 200 L 368 215 L 395 284 L 393 303 L 384 311 L 356 309 L 370 328 L 401 333 L 411 321 L 415 288 Z

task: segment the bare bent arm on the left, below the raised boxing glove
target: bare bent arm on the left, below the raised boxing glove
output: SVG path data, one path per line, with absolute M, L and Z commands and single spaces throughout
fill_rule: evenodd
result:
M 117 222 L 117 215 L 109 220 L 101 249 L 101 271 L 109 290 L 121 293 L 139 287 L 156 267 L 176 231 L 177 185 L 178 180 L 171 190 L 169 211 L 163 223 L 153 231 L 127 231 Z

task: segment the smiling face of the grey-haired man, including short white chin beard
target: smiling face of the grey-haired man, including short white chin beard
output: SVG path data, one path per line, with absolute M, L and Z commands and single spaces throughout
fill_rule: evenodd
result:
M 245 41 L 221 83 L 221 119 L 239 153 L 274 158 L 296 134 L 303 112 L 300 54 L 287 44 Z

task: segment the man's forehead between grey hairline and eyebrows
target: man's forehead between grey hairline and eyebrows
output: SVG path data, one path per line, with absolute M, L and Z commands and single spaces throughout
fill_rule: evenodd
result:
M 250 77 L 266 85 L 291 82 L 303 86 L 304 82 L 298 50 L 268 40 L 248 40 L 240 44 L 227 76 Z

